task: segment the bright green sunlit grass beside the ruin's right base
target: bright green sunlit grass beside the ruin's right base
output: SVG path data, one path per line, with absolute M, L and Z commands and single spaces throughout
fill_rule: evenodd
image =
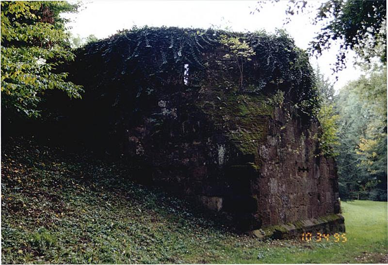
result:
M 260 261 L 263 263 L 378 263 L 387 256 L 387 202 L 352 201 L 341 203 L 345 218 L 346 242 L 300 244 L 298 250 L 277 248 Z M 285 246 L 290 241 L 285 241 Z M 305 250 L 303 248 L 306 248 Z M 272 251 L 271 251 L 272 252 Z M 238 259 L 236 263 L 257 263 Z

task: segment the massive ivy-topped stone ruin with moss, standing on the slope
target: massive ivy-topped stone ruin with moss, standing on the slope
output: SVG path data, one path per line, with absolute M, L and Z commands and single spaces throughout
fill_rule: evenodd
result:
M 247 46 L 233 50 L 222 38 Z M 142 181 L 243 230 L 344 231 L 335 161 L 317 140 L 311 67 L 284 33 L 133 29 L 77 58 L 70 73 L 86 90 L 87 107 L 75 106 L 82 130 L 144 163 Z

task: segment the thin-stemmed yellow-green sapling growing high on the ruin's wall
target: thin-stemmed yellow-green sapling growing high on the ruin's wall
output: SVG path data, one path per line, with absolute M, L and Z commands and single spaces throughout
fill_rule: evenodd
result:
M 253 55 L 256 55 L 252 47 L 250 47 L 244 40 L 240 41 L 239 37 L 228 37 L 226 35 L 220 36 L 220 43 L 225 45 L 229 51 L 224 58 L 234 59 L 237 64 L 237 67 L 240 71 L 240 89 L 242 89 L 242 80 L 243 80 L 243 71 L 244 63 L 251 61 L 250 58 Z

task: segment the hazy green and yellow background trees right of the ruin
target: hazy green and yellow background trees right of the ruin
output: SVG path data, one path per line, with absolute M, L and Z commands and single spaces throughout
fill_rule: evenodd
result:
M 353 192 L 387 187 L 386 68 L 373 70 L 340 90 L 339 182 Z

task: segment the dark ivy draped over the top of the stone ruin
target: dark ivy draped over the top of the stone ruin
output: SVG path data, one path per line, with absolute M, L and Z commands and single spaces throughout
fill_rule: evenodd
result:
M 212 56 L 217 50 L 222 51 L 220 58 Z M 224 55 L 234 56 L 235 62 Z M 88 44 L 77 56 L 79 60 L 68 68 L 74 73 L 71 79 L 96 92 L 97 98 L 104 94 L 113 99 L 110 105 L 116 108 L 131 105 L 124 102 L 128 94 L 142 98 L 165 86 L 183 85 L 184 64 L 190 69 L 185 89 L 219 78 L 217 72 L 225 73 L 224 90 L 229 85 L 233 88 L 236 75 L 241 88 L 242 70 L 246 92 L 282 90 L 287 100 L 298 103 L 308 115 L 318 103 L 308 56 L 284 31 L 242 34 L 214 29 L 133 28 Z M 94 78 L 97 75 L 101 78 Z M 116 98 L 119 100 L 114 103 Z

